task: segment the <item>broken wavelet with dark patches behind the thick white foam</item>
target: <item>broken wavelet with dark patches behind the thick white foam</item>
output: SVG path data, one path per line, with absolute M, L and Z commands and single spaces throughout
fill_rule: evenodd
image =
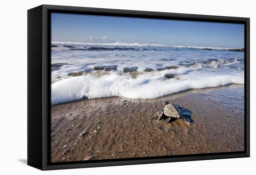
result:
M 187 74 L 190 71 L 201 70 L 201 69 L 211 69 L 211 68 L 221 68 L 223 66 L 231 66 L 234 64 L 240 63 L 237 58 L 232 58 L 229 60 L 223 59 L 210 59 L 206 62 L 198 62 L 198 63 L 188 63 L 183 64 L 182 66 L 162 66 L 162 67 L 143 67 L 141 64 L 136 64 L 137 66 L 126 67 L 125 65 L 97 65 L 97 64 L 85 64 L 81 65 L 81 68 L 78 68 L 76 65 L 68 65 L 61 63 L 54 63 L 51 65 L 52 71 L 60 71 L 61 74 L 52 75 L 52 81 L 59 81 L 63 78 L 69 78 L 70 76 L 78 76 L 78 75 L 93 75 L 94 71 L 102 70 L 105 74 L 106 72 L 118 71 L 120 75 L 125 73 L 134 72 L 134 75 L 144 74 L 147 72 L 159 72 L 163 71 L 165 74 Z M 142 66 L 142 67 L 141 67 Z M 65 67 L 62 69 L 62 67 Z M 232 66 L 231 68 L 238 69 L 237 66 Z M 65 71 L 66 70 L 66 71 Z M 167 72 L 166 72 L 167 71 Z M 54 72 L 55 73 L 55 72 Z

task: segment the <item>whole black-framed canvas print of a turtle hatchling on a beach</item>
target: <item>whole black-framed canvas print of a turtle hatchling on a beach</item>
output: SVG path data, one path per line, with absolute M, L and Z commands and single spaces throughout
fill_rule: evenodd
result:
M 249 18 L 28 10 L 28 165 L 249 156 Z

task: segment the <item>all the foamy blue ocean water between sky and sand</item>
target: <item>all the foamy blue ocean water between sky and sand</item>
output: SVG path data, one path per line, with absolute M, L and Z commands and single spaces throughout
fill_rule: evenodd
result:
M 83 98 L 153 99 L 244 84 L 244 52 L 137 43 L 52 42 L 52 105 Z

